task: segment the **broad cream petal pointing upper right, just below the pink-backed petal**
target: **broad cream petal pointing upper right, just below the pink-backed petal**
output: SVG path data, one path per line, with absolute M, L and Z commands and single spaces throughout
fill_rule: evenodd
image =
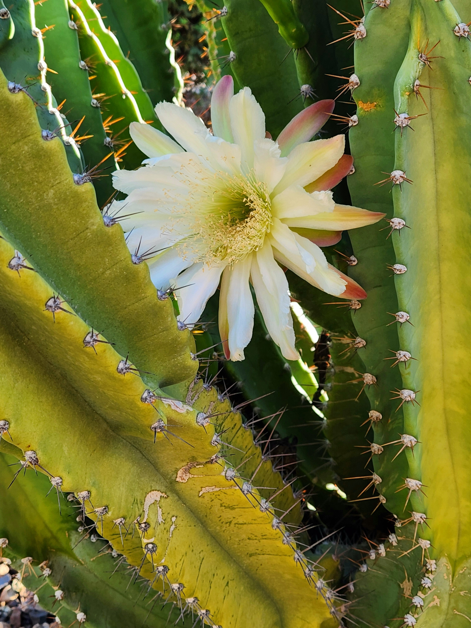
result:
M 299 144 L 288 155 L 288 164 L 284 176 L 279 181 L 273 194 L 279 194 L 290 185 L 304 187 L 318 179 L 325 171 L 333 168 L 344 154 L 345 136 L 336 135 L 330 139 L 316 139 L 313 142 Z

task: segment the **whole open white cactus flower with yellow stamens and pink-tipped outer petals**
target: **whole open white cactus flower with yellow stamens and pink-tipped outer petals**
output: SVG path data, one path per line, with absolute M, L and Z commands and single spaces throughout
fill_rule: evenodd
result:
M 244 359 L 252 336 L 250 284 L 268 332 L 286 359 L 297 359 L 288 281 L 281 266 L 345 299 L 366 293 L 327 263 L 318 245 L 335 244 L 344 229 L 383 214 L 336 205 L 330 188 L 350 170 L 343 135 L 310 139 L 332 100 L 296 116 L 277 141 L 247 87 L 234 95 L 232 77 L 215 86 L 212 131 L 190 109 L 155 108 L 173 137 L 133 122 L 131 137 L 148 155 L 144 167 L 119 170 L 114 187 L 127 193 L 127 244 L 148 259 L 158 290 L 175 286 L 179 320 L 193 325 L 220 285 L 219 329 L 226 357 Z

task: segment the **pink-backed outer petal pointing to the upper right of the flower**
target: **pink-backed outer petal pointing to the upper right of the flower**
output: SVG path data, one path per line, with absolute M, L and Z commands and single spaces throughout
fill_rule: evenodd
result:
M 291 153 L 298 144 L 310 141 L 327 122 L 333 107 L 335 107 L 333 100 L 319 100 L 293 117 L 277 139 L 281 156 Z

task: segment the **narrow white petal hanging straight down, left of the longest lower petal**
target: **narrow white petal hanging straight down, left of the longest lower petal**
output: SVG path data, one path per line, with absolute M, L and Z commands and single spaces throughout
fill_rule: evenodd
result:
M 224 270 L 229 350 L 230 359 L 234 362 L 244 360 L 244 349 L 250 342 L 254 327 L 255 308 L 249 283 L 251 263 L 252 254 Z

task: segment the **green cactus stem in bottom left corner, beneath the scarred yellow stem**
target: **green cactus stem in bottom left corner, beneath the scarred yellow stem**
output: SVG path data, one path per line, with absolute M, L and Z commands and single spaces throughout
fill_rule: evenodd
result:
M 21 482 L 8 490 L 8 465 L 15 462 L 11 456 L 0 455 L 0 536 L 8 539 L 9 549 L 19 559 L 33 558 L 31 574 L 24 570 L 22 582 L 36 592 L 43 608 L 58 615 L 62 625 L 74 622 L 75 612 L 80 609 L 87 616 L 87 625 L 93 628 L 119 628 L 123 622 L 164 628 L 168 620 L 178 619 L 180 609 L 171 610 L 173 604 L 162 608 L 160 597 L 153 600 L 158 594 L 155 590 L 146 595 L 148 583 L 145 588 L 143 583 L 136 583 L 131 566 L 122 562 L 116 550 L 104 545 L 104 539 L 97 539 L 93 530 L 84 539 L 77 531 L 77 508 L 62 496 L 62 515 L 59 513 L 55 490 L 45 497 L 51 488 L 46 475 L 36 475 L 29 469 Z M 14 558 L 11 551 L 8 556 Z M 45 561 L 51 570 L 49 576 L 36 566 Z M 21 561 L 13 560 L 14 566 L 18 563 L 21 571 Z M 63 593 L 60 601 L 55 598 L 57 590 Z

